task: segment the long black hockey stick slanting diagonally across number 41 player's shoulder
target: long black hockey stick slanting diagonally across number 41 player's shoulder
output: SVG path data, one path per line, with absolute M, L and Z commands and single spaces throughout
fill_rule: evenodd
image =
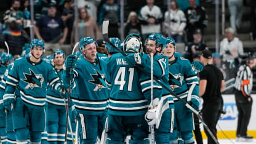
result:
M 111 46 L 114 47 L 114 49 L 118 50 L 118 52 L 120 52 L 122 55 L 127 56 L 127 54 L 125 54 L 122 50 L 118 49 L 118 47 L 114 46 L 114 44 L 112 44 L 110 42 L 110 39 L 108 38 L 108 20 L 103 21 L 103 25 L 102 25 L 102 34 L 103 34 L 103 39 L 104 41 L 108 42 Z M 148 71 L 145 71 L 142 66 L 139 65 L 135 65 L 135 68 L 138 68 L 139 70 L 141 70 L 143 73 L 147 74 L 148 76 L 150 76 L 150 73 L 148 73 Z M 184 100 L 182 100 L 182 98 L 178 97 L 178 95 L 174 94 L 174 92 L 172 92 L 172 90 L 170 90 L 168 87 L 166 87 L 164 84 L 162 84 L 161 81 L 159 81 L 155 76 L 153 76 L 154 81 L 158 82 L 158 84 L 160 84 L 164 89 L 168 90 L 170 92 L 171 95 L 174 95 L 175 98 L 177 98 L 178 100 L 180 100 L 180 102 L 182 102 L 188 109 L 190 109 L 191 111 L 193 111 L 194 114 L 196 114 L 196 116 L 198 116 L 198 119 L 202 122 L 202 124 L 204 125 L 204 127 L 206 128 L 207 132 L 209 132 L 210 137 L 212 137 L 212 139 L 214 139 L 214 142 L 218 144 L 218 140 L 217 138 L 214 137 L 214 135 L 212 134 L 212 132 L 210 131 L 209 127 L 206 125 L 206 123 L 202 120 L 200 114 L 198 111 L 196 111 L 191 105 L 189 105 L 188 103 L 186 103 Z

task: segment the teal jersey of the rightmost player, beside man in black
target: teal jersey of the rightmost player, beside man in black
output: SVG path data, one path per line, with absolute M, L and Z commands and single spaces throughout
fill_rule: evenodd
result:
M 189 60 L 174 54 L 175 60 L 169 63 L 169 86 L 180 98 L 199 95 L 199 83 Z M 177 98 L 174 98 L 177 101 Z

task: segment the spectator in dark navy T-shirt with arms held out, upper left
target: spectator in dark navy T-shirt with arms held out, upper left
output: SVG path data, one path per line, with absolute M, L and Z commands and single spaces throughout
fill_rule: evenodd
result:
M 34 26 L 36 37 L 46 42 L 46 55 L 49 49 L 60 49 L 60 44 L 65 42 L 68 33 L 68 28 L 56 12 L 55 5 L 50 4 L 48 14 L 41 17 Z

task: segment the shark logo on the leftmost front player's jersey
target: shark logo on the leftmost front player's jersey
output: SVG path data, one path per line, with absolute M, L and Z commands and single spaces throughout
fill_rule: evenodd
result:
M 28 83 L 25 89 L 33 89 L 34 87 L 42 87 L 42 82 L 44 82 L 44 78 L 42 78 L 42 74 L 34 74 L 34 71 L 30 69 L 30 74 L 23 73 L 25 79 L 22 81 Z

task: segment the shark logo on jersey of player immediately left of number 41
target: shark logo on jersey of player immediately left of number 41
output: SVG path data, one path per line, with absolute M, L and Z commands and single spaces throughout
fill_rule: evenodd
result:
M 105 74 L 100 74 L 97 70 L 94 69 L 94 71 L 97 74 L 90 74 L 92 76 L 92 81 L 89 81 L 92 84 L 96 84 L 96 87 L 94 88 L 94 91 L 97 91 L 98 89 L 101 90 L 102 88 L 106 88 L 106 83 L 105 83 Z

